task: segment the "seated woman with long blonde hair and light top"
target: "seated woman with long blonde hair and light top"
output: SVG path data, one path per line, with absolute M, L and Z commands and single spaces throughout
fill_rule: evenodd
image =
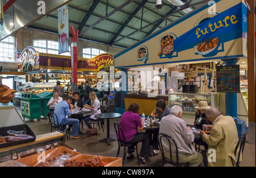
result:
M 84 122 L 86 123 L 89 129 L 92 129 L 92 126 L 90 125 L 89 121 L 97 119 L 94 117 L 94 115 L 101 114 L 101 105 L 100 100 L 98 100 L 95 92 L 90 92 L 89 98 L 92 101 L 92 106 L 85 104 L 84 108 L 92 110 L 92 115 L 86 115 L 86 117 L 84 117 Z

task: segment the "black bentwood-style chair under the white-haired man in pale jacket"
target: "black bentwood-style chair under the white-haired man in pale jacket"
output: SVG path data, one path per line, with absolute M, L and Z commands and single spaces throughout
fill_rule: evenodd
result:
M 167 134 L 163 134 L 160 133 L 158 134 L 158 138 L 159 138 L 159 144 L 160 144 L 160 151 L 162 153 L 162 166 L 164 166 L 165 163 L 169 163 L 172 165 L 176 165 L 177 167 L 179 166 L 189 166 L 189 162 L 186 163 L 180 163 L 179 162 L 179 155 L 178 155 L 178 148 L 177 148 L 177 144 L 175 142 L 175 140 L 173 138 L 171 138 L 171 136 L 167 135 Z M 167 144 L 167 146 L 169 146 L 169 151 L 170 151 L 170 159 L 166 158 L 166 156 L 164 156 L 164 150 L 163 150 L 163 139 L 166 139 L 167 142 L 165 142 Z M 172 146 L 175 146 L 175 152 L 171 149 Z M 174 154 L 172 154 L 172 152 L 174 152 Z M 172 159 L 172 156 L 176 155 L 176 162 Z

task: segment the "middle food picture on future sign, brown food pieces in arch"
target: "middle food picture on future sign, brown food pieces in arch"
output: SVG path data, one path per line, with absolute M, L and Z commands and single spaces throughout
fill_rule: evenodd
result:
M 160 42 L 161 50 L 158 52 L 158 56 L 161 54 L 167 56 L 174 52 L 174 37 L 167 35 L 164 36 Z

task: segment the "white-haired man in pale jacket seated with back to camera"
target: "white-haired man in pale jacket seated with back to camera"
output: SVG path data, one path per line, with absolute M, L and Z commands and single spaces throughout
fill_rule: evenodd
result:
M 159 133 L 171 136 L 178 148 L 179 162 L 189 162 L 189 166 L 196 167 L 203 163 L 203 156 L 195 151 L 192 143 L 194 142 L 195 135 L 190 127 L 181 119 L 182 109 L 180 106 L 172 106 L 171 113 L 162 118 L 160 122 Z M 166 152 L 166 157 L 170 158 L 168 144 L 163 143 L 163 149 Z M 173 160 L 176 159 L 172 156 Z

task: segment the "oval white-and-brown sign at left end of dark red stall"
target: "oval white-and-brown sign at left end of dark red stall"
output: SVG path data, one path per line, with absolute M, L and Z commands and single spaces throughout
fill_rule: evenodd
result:
M 36 49 L 33 47 L 26 47 L 22 53 L 20 53 L 19 58 L 19 69 L 22 70 L 22 72 L 31 72 L 35 69 L 35 63 L 37 59 L 38 53 L 36 52 Z

